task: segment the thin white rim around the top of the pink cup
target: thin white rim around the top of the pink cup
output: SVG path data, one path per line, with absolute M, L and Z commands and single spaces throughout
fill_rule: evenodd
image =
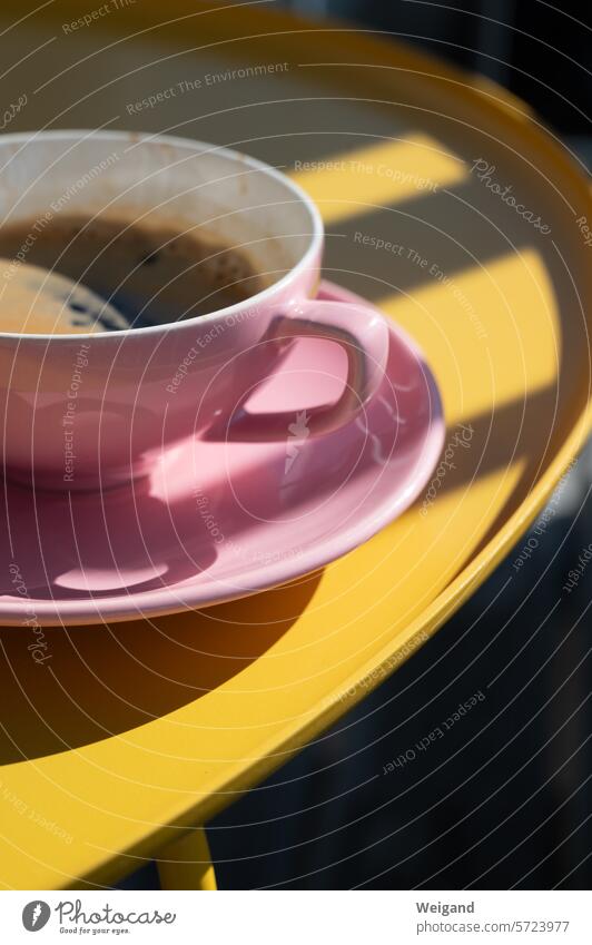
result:
M 208 312 L 206 315 L 194 315 L 191 318 L 184 318 L 180 322 L 165 322 L 161 325 L 147 325 L 145 327 L 139 328 L 119 328 L 116 331 L 106 331 L 106 332 L 79 332 L 79 333 L 59 333 L 59 334 L 48 334 L 48 333 L 24 333 L 24 332 L 2 332 L 0 331 L 0 339 L 2 338 L 17 338 L 21 343 L 27 343 L 28 341 L 45 341 L 45 342 L 69 342 L 72 341 L 80 343 L 81 341 L 92 339 L 92 342 L 97 343 L 101 339 L 111 341 L 112 338 L 124 338 L 127 335 L 149 335 L 149 334 L 161 334 L 164 331 L 175 331 L 186 328 L 189 325 L 199 325 L 211 324 L 216 322 L 218 318 L 227 318 L 228 316 L 236 315 L 240 311 L 244 311 L 245 307 L 256 306 L 265 304 L 269 301 L 274 295 L 285 288 L 289 283 L 294 282 L 298 275 L 306 270 L 310 264 L 313 264 L 319 254 L 322 245 L 323 245 L 323 236 L 324 236 L 324 225 L 318 207 L 315 201 L 292 178 L 289 178 L 286 174 L 283 174 L 280 170 L 277 170 L 266 161 L 259 160 L 258 158 L 254 158 L 250 155 L 245 154 L 244 151 L 238 151 L 235 148 L 227 148 L 224 145 L 213 145 L 208 141 L 196 140 L 195 138 L 182 138 L 179 135 L 160 135 L 159 132 L 150 134 L 142 131 L 126 131 L 126 130 L 114 130 L 106 131 L 105 129 L 85 129 L 85 128 L 70 128 L 70 129 L 60 129 L 59 131 L 14 131 L 9 132 L 8 135 L 2 135 L 1 141 L 2 144 L 26 144 L 28 141 L 33 141 L 37 138 L 50 139 L 50 140 L 72 140 L 75 138 L 83 139 L 92 139 L 92 138 L 103 138 L 111 140 L 120 140 L 128 141 L 130 144 L 141 144 L 142 141 L 164 141 L 165 144 L 170 144 L 176 147 L 188 148 L 189 150 L 205 150 L 206 152 L 216 152 L 221 155 L 223 157 L 230 158 L 231 160 L 239 161 L 243 165 L 247 165 L 256 170 L 264 171 L 268 177 L 274 178 L 279 184 L 282 184 L 287 190 L 292 190 L 292 193 L 298 198 L 298 200 L 304 204 L 308 214 L 310 216 L 310 220 L 313 224 L 313 233 L 310 235 L 310 239 L 308 246 L 302 254 L 299 260 L 280 279 L 272 283 L 272 285 L 266 286 L 260 292 L 257 292 L 255 295 L 248 296 L 248 298 L 241 299 L 240 302 L 235 302 L 233 305 L 227 305 L 225 308 L 216 308 L 214 312 Z

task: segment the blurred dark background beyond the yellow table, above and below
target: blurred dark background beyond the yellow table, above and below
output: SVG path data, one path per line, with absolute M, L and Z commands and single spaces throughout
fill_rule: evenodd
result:
M 592 156 L 590 3 L 284 6 L 388 30 L 481 71 Z M 388 681 L 209 825 L 221 888 L 590 886 L 592 564 L 562 621 L 549 612 L 592 540 L 591 466 L 588 451 L 519 578 L 512 561 L 527 538 Z M 383 774 L 478 690 L 486 698 L 442 742 Z M 125 885 L 156 882 L 146 867 Z

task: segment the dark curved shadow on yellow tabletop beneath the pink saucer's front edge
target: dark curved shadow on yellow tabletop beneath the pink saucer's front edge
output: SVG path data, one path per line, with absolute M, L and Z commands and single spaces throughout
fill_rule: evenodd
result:
M 0 764 L 120 735 L 207 696 L 289 630 L 320 575 L 207 611 L 46 628 L 50 659 L 39 665 L 29 628 L 0 629 Z

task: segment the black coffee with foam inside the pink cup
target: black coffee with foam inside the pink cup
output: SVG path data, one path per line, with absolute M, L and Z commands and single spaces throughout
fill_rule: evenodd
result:
M 178 322 L 243 302 L 266 285 L 246 252 L 204 236 L 201 229 L 108 216 L 55 217 L 43 226 L 36 220 L 8 224 L 0 227 L 0 257 L 13 260 L 6 280 L 17 279 L 23 259 L 80 282 L 122 316 L 114 321 L 105 313 L 89 324 L 88 312 L 66 304 L 52 321 L 52 334 Z M 0 302 L 0 332 L 47 332 L 47 318 L 36 317 L 34 311 L 23 314 L 22 324 L 19 319 L 16 311 L 9 316 L 8 306 L 2 319 Z

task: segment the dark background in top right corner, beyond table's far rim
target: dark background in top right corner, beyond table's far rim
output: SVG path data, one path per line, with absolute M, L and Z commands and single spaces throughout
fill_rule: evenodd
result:
M 282 6 L 387 30 L 501 82 L 563 134 L 590 134 L 589 0 L 296 0 Z

